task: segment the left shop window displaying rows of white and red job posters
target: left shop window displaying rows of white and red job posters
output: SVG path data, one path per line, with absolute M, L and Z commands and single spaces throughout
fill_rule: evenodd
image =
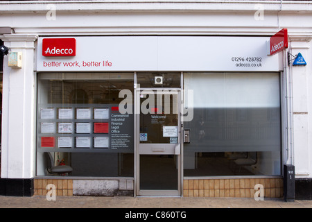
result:
M 38 74 L 37 176 L 134 175 L 133 74 Z

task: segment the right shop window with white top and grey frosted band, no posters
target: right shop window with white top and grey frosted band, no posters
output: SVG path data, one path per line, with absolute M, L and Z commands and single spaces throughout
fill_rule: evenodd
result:
M 281 175 L 279 74 L 184 73 L 184 89 L 194 108 L 184 176 Z

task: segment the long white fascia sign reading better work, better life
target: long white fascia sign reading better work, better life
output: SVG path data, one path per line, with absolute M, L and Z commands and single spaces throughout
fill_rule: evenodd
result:
M 270 37 L 75 36 L 74 39 L 77 53 L 73 56 L 73 51 L 69 56 L 65 54 L 71 52 L 67 44 L 46 44 L 49 37 L 39 37 L 36 71 L 283 70 L 279 54 L 267 56 L 266 43 Z

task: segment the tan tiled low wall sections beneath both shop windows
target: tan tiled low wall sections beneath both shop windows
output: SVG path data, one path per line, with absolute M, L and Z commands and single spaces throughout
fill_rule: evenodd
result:
M 70 179 L 35 179 L 34 195 L 45 196 L 48 184 L 55 185 L 57 196 L 73 196 L 73 180 Z M 257 184 L 263 185 L 265 198 L 283 197 L 282 178 L 184 180 L 183 196 L 253 198 Z

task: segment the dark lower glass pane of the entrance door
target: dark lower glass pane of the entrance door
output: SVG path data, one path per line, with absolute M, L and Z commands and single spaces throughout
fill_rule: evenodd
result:
M 177 189 L 175 155 L 140 155 L 140 189 Z

